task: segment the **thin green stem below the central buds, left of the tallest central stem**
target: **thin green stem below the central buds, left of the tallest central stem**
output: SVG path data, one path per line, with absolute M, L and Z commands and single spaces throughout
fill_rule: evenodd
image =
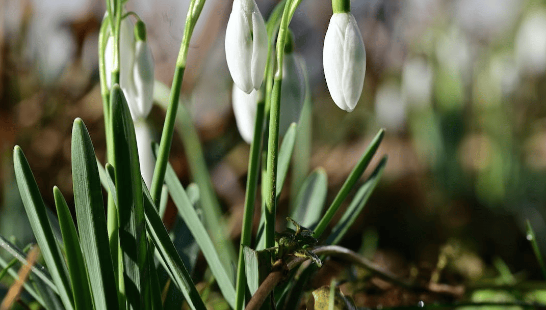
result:
M 254 138 L 250 145 L 250 161 L 248 161 L 248 175 L 246 180 L 245 209 L 242 217 L 241 246 L 239 247 L 239 262 L 237 265 L 237 283 L 235 309 L 242 309 L 245 301 L 246 274 L 243 246 L 250 246 L 252 234 L 252 217 L 256 200 L 256 186 L 260 170 L 260 142 L 262 140 L 262 126 L 264 123 L 265 102 L 260 100 L 256 108 L 256 123 L 254 124 Z

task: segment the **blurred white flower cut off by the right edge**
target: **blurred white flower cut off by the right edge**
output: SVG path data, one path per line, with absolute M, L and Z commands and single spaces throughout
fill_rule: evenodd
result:
M 546 12 L 533 10 L 521 23 L 515 40 L 520 71 L 540 75 L 546 70 Z

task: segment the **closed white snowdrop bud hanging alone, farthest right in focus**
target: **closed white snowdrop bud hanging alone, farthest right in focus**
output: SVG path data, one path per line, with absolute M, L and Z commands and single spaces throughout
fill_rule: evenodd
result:
M 337 106 L 352 112 L 364 86 L 366 50 L 350 12 L 334 13 L 324 37 L 324 76 Z

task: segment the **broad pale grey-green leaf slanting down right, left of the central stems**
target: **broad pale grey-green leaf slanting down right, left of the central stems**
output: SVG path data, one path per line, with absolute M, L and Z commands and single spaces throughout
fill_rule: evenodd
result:
M 207 234 L 205 227 L 199 220 L 195 209 L 193 209 L 193 206 L 188 199 L 186 191 L 182 187 L 182 184 L 180 184 L 176 172 L 174 172 L 173 167 L 171 167 L 170 164 L 167 165 L 167 172 L 165 172 L 165 183 L 167 183 L 169 193 L 171 198 L 173 198 L 176 208 L 178 208 L 180 216 L 192 232 L 193 238 L 195 238 L 207 263 L 209 263 L 209 268 L 216 278 L 225 300 L 234 308 L 235 288 L 233 287 L 232 281 L 233 274 L 228 273 L 228 271 L 224 269 L 209 234 Z

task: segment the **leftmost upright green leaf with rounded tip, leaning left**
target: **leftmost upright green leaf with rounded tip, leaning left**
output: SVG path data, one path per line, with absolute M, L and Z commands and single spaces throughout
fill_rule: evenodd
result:
M 16 145 L 13 150 L 13 157 L 19 193 L 21 194 L 23 205 L 25 205 L 32 231 L 40 246 L 45 263 L 51 272 L 51 277 L 58 289 L 64 307 L 73 309 L 74 305 L 72 290 L 70 289 L 70 279 L 68 277 L 66 265 L 64 264 L 64 259 L 61 255 L 61 250 L 57 245 L 57 240 L 51 229 L 51 223 L 49 222 L 44 201 L 38 190 L 38 185 L 34 180 L 25 154 L 23 154 L 23 151 L 18 145 Z

